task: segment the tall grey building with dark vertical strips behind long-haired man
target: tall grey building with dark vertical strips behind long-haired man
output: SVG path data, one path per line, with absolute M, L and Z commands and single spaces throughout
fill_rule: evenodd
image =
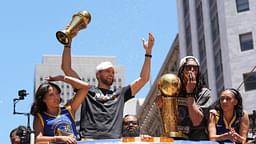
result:
M 180 57 L 198 57 L 216 99 L 239 89 L 244 109 L 256 109 L 256 1 L 176 0 Z M 254 70 L 254 71 L 253 71 Z

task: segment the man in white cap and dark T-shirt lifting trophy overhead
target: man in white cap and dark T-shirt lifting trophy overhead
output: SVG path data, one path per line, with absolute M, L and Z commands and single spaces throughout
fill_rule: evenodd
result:
M 88 13 L 84 14 L 86 15 L 82 17 L 85 18 L 80 17 L 80 20 L 74 20 L 73 17 L 67 29 L 56 34 L 57 39 L 64 44 L 61 68 L 67 76 L 78 79 L 78 74 L 71 67 L 71 41 L 78 31 L 85 28 L 91 20 Z M 79 16 L 81 15 L 78 14 Z M 65 36 L 65 34 L 69 36 Z M 115 139 L 121 137 L 124 104 L 133 98 L 149 80 L 154 41 L 152 33 L 148 34 L 148 41 L 142 41 L 145 56 L 143 56 L 144 64 L 139 78 L 117 91 L 110 89 L 115 76 L 112 63 L 102 62 L 96 67 L 98 86 L 90 86 L 81 108 L 80 134 L 82 139 Z

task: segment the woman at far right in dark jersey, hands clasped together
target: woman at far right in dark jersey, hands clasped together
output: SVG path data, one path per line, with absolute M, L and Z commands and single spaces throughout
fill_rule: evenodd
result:
M 227 88 L 210 110 L 209 139 L 212 141 L 246 143 L 249 117 L 243 110 L 239 91 Z

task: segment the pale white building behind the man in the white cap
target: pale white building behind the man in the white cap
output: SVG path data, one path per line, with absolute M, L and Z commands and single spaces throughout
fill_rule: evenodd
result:
M 124 86 L 124 67 L 116 65 L 115 57 L 110 56 L 72 56 L 72 67 L 76 70 L 81 80 L 90 85 L 97 86 L 96 66 L 103 61 L 110 61 L 115 65 L 115 79 L 112 89 Z M 43 56 L 42 64 L 37 64 L 35 69 L 35 90 L 51 75 L 63 75 L 61 68 L 61 56 Z M 62 104 L 67 103 L 74 95 L 71 85 L 64 82 L 56 82 L 61 88 Z M 80 120 L 80 109 L 76 113 L 76 121 Z

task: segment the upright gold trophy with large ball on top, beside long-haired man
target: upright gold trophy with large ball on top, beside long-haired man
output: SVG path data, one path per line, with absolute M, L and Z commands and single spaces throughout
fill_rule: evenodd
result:
M 164 74 L 159 82 L 158 88 L 161 93 L 162 106 L 160 114 L 163 122 L 164 136 L 172 138 L 183 137 L 182 132 L 177 129 L 178 125 L 178 96 L 181 81 L 175 74 Z

